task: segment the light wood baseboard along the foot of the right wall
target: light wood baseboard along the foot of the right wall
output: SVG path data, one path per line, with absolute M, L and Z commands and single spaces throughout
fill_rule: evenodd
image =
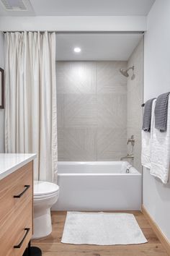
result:
M 161 241 L 161 244 L 163 244 L 164 248 L 168 252 L 168 255 L 170 255 L 170 243 L 166 236 L 162 233 L 161 229 L 159 229 L 158 225 L 153 221 L 153 218 L 151 215 L 148 213 L 148 210 L 142 205 L 142 213 L 148 220 L 148 223 L 151 225 L 151 228 L 153 231 L 156 233 L 156 236 L 158 236 L 158 239 Z

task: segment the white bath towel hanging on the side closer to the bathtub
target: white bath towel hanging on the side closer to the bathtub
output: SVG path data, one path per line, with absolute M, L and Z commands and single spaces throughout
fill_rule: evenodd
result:
M 150 132 L 144 132 L 142 130 L 142 153 L 141 162 L 146 168 L 151 168 L 151 140 L 153 135 L 153 124 L 155 119 L 155 106 L 156 99 L 152 103 L 152 114 L 151 114 L 151 129 Z

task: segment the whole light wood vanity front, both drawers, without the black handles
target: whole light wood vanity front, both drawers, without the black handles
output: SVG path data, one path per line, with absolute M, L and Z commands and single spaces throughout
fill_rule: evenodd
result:
M 27 163 L 0 181 L 0 256 L 21 256 L 32 237 L 32 168 L 32 162 Z M 14 198 L 24 190 L 24 185 L 30 188 L 22 197 Z M 22 241 L 25 228 L 30 231 L 22 247 L 14 249 Z

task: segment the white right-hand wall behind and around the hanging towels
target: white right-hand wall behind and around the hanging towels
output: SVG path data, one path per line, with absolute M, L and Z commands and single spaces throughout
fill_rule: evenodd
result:
M 170 91 L 170 1 L 156 0 L 144 44 L 144 101 Z M 170 241 L 170 183 L 143 170 L 143 205 Z

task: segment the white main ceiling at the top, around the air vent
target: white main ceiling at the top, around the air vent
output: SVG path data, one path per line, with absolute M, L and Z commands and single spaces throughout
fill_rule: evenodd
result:
M 6 11 L 0 1 L 0 16 L 146 16 L 155 0 L 4 0 L 23 1 L 25 11 Z

